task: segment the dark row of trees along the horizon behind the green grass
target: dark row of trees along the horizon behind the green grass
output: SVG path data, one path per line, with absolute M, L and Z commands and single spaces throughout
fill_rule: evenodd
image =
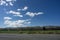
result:
M 60 26 L 35 26 L 35 27 L 19 27 L 19 28 L 0 28 L 0 31 L 33 31 L 33 30 L 60 30 Z

